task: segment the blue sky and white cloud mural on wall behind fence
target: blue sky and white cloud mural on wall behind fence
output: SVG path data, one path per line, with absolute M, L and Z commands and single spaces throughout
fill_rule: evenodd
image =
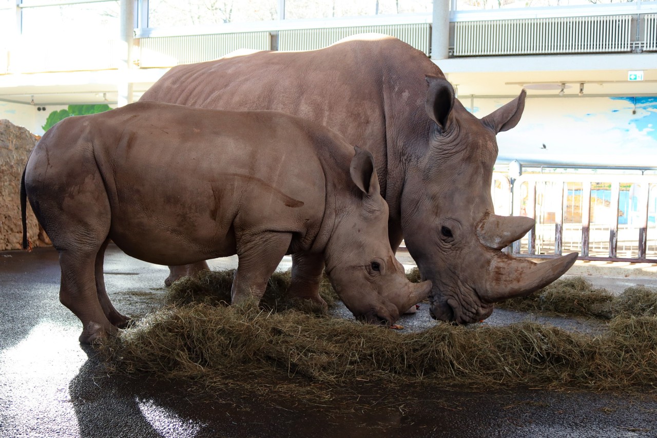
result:
M 508 101 L 476 99 L 473 112 Z M 657 97 L 528 97 L 518 126 L 497 142 L 503 160 L 657 167 Z

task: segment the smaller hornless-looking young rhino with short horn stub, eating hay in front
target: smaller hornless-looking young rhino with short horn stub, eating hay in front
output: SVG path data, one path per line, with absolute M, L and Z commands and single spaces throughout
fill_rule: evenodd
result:
M 323 258 L 367 322 L 393 324 L 431 288 L 410 283 L 390 249 L 372 155 L 281 112 L 139 102 L 66 118 L 28 160 L 23 212 L 26 197 L 59 252 L 60 301 L 81 320 L 82 343 L 128 321 L 105 291 L 110 239 L 164 265 L 237 254 L 233 303 L 260 300 L 286 254 L 300 266 L 292 297 L 325 305 L 321 269 L 303 268 Z

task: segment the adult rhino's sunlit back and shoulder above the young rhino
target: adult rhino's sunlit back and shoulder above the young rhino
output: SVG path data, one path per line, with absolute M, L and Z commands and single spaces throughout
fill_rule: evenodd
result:
M 263 51 L 177 66 L 141 100 L 282 110 L 328 126 L 374 155 L 392 218 L 403 187 L 403 160 L 426 151 L 425 75 L 443 76 L 407 43 L 371 34 L 316 51 Z

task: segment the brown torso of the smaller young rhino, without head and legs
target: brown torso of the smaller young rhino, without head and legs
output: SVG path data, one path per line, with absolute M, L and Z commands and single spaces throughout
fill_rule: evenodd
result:
M 298 120 L 148 102 L 104 114 L 93 145 L 110 236 L 126 253 L 171 264 L 170 251 L 232 255 L 235 239 L 261 230 L 292 232 L 300 247 L 319 230 L 327 180 Z M 135 230 L 166 245 L 145 248 Z

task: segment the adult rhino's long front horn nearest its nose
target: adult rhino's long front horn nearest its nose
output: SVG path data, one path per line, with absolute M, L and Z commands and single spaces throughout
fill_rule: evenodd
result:
M 496 303 L 514 297 L 524 297 L 545 287 L 573 266 L 578 253 L 570 253 L 546 262 L 514 258 L 499 253 L 491 261 L 488 279 L 481 292 L 482 299 Z

